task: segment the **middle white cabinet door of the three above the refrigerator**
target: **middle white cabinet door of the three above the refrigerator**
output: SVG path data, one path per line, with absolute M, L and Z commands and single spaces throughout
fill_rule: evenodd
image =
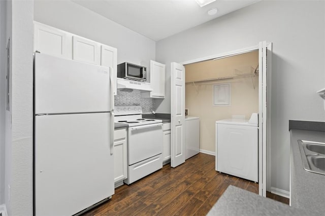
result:
M 100 44 L 78 36 L 72 37 L 72 58 L 91 64 L 100 64 Z

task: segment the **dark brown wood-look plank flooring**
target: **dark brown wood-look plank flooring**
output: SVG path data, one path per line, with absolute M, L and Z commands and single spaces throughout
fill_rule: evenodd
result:
M 162 169 L 115 189 L 89 215 L 205 215 L 229 185 L 258 194 L 258 184 L 215 171 L 215 157 L 199 153 L 176 168 Z M 288 199 L 268 193 L 272 199 Z

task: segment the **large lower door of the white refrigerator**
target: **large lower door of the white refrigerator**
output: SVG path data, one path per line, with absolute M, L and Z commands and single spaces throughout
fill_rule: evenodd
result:
M 110 113 L 35 117 L 36 215 L 72 215 L 114 194 Z

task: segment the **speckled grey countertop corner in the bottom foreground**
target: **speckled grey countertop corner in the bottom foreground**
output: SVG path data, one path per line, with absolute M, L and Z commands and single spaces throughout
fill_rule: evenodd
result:
M 207 215 L 320 215 L 229 186 Z

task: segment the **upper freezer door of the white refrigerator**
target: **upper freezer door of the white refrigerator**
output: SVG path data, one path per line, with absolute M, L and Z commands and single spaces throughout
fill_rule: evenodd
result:
M 110 68 L 35 53 L 35 114 L 110 112 Z

